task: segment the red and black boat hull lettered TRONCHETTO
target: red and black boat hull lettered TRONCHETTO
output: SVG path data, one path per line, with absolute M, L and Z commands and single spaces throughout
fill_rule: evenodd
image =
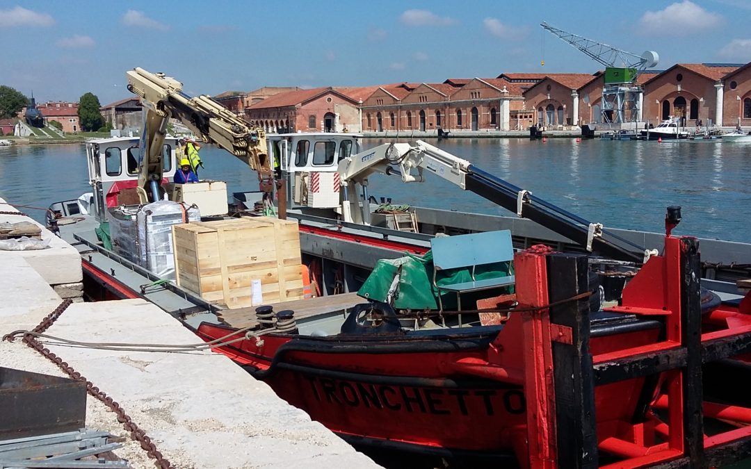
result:
M 655 326 L 625 323 L 621 333 L 593 338 L 593 351 L 653 343 L 659 335 Z M 502 455 L 526 451 L 520 327 L 520 321 L 512 318 L 500 331 L 443 336 L 267 335 L 261 348 L 251 339 L 220 350 L 290 404 L 350 440 L 388 440 L 443 453 Z M 228 332 L 231 329 L 209 323 L 198 329 L 205 340 Z M 499 339 L 508 350 L 508 361 L 516 365 L 489 364 L 497 351 L 491 344 Z M 484 371 L 473 365 L 481 365 Z M 644 383 L 638 378 L 600 386 L 596 392 L 598 410 L 602 409 L 599 423 L 630 421 L 642 392 L 650 394 L 654 389 L 654 383 L 651 389 L 645 389 Z

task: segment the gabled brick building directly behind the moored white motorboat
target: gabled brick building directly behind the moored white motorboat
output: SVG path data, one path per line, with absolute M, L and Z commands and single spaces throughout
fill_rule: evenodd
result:
M 703 125 L 723 125 L 722 78 L 738 68 L 740 65 L 731 64 L 673 65 L 644 83 L 642 119 L 660 122 L 674 116 L 683 126 L 694 125 L 698 119 Z M 737 113 L 729 113 L 731 116 Z

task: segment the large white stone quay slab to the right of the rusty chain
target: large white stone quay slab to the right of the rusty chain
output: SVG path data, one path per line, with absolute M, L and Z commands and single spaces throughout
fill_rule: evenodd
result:
M 201 342 L 143 299 L 71 305 L 47 333 L 77 341 Z M 122 404 L 176 467 L 378 467 L 219 353 L 48 347 Z

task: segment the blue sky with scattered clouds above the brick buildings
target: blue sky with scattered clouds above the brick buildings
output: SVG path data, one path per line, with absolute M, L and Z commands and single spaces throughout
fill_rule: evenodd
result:
M 129 98 L 141 67 L 189 95 L 441 83 L 602 65 L 539 24 L 676 63 L 751 62 L 751 0 L 265 2 L 0 0 L 0 85 L 38 102 Z M 544 65 L 541 65 L 544 62 Z

